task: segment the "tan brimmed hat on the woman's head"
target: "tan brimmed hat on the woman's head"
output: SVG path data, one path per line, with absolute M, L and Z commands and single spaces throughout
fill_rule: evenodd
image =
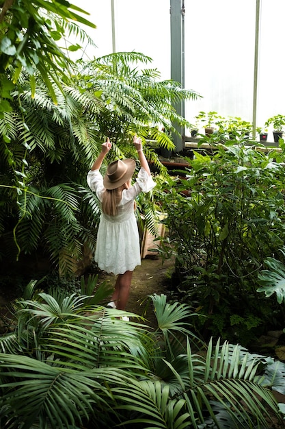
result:
M 131 179 L 135 171 L 135 160 L 117 160 L 109 164 L 104 176 L 103 185 L 106 189 L 116 189 Z

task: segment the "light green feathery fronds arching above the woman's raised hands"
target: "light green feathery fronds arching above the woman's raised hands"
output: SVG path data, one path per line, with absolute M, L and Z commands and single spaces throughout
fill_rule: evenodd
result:
M 157 140 L 159 145 L 173 149 L 169 135 L 177 134 L 175 125 L 190 125 L 173 106 L 184 99 L 197 99 L 199 95 L 173 80 L 161 81 L 157 69 L 136 66 L 138 62 L 151 61 L 142 53 L 118 52 L 82 62 L 79 84 L 94 95 L 100 91 L 105 110 L 96 116 L 96 123 L 105 136 L 122 145 L 137 132 L 143 138 Z

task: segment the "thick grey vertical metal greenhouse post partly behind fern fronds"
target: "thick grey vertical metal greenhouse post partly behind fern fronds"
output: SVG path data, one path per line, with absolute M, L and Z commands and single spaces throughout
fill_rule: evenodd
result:
M 170 0 L 170 62 L 171 62 L 171 78 L 176 82 L 180 82 L 182 88 L 185 86 L 185 5 L 184 0 Z M 185 101 L 179 101 L 174 104 L 176 112 L 183 118 L 185 117 Z M 185 129 L 180 125 L 174 124 L 174 127 L 182 136 L 174 135 L 174 145 L 176 151 L 184 149 Z

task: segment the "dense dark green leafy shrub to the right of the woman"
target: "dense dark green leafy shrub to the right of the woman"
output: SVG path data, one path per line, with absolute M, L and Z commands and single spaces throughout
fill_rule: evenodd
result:
M 245 141 L 215 145 L 215 138 L 213 153 L 195 151 L 186 177 L 164 188 L 165 244 L 176 255 L 179 291 L 208 315 L 204 334 L 247 345 L 273 320 L 280 329 L 280 308 L 260 297 L 257 278 L 285 239 L 284 152 L 266 154 Z M 232 315 L 241 317 L 241 331 Z

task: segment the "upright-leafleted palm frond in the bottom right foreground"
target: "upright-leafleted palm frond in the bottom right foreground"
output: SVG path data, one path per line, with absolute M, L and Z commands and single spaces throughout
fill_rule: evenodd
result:
M 222 427 L 211 406 L 210 398 L 214 398 L 239 427 L 254 428 L 256 424 L 267 427 L 267 419 L 271 419 L 269 408 L 276 416 L 279 415 L 277 402 L 271 391 L 262 387 L 260 378 L 256 377 L 259 361 L 249 359 L 248 365 L 248 356 L 241 360 L 240 348 L 236 345 L 230 352 L 227 342 L 220 347 L 218 341 L 213 350 L 210 342 L 204 359 L 193 355 L 188 343 L 190 391 L 187 393 L 187 408 L 189 413 L 198 413 L 204 422 L 201 411 L 205 407 L 217 427 Z

